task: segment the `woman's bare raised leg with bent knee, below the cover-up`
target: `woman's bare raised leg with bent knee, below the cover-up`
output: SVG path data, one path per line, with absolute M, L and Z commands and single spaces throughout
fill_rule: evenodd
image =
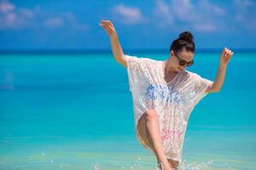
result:
M 169 162 L 166 159 L 163 144 L 160 138 L 160 125 L 156 111 L 148 110 L 145 112 L 146 119 L 146 133 L 154 155 L 156 156 L 158 164 L 162 161 L 164 170 L 171 170 Z

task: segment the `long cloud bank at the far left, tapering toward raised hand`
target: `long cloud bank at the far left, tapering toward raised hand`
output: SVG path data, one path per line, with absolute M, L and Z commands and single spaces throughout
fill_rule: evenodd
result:
M 24 28 L 55 29 L 72 28 L 76 31 L 87 31 L 88 26 L 77 20 L 70 12 L 51 14 L 36 5 L 34 8 L 19 8 L 5 0 L 0 2 L 0 30 L 20 30 Z

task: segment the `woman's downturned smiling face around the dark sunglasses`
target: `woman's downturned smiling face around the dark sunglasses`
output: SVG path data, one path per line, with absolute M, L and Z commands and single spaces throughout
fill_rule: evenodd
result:
M 179 59 L 185 60 L 186 62 L 192 61 L 192 59 L 194 58 L 194 53 L 183 49 L 182 51 L 177 53 L 177 56 L 176 54 L 174 54 L 173 51 L 171 51 L 171 56 L 172 56 L 171 60 L 172 60 L 173 69 L 179 72 L 187 67 L 187 65 L 179 65 Z

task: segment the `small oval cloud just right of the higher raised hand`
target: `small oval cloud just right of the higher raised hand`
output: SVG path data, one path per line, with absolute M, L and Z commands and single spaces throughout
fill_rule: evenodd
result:
M 113 15 L 126 25 L 135 25 L 147 20 L 139 8 L 126 7 L 123 4 L 113 7 Z

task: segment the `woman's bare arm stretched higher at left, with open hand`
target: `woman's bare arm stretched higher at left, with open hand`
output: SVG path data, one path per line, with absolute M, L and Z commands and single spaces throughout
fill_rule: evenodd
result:
M 111 48 L 112 48 L 114 59 L 117 62 L 119 62 L 120 65 L 127 67 L 127 59 L 120 46 L 119 38 L 114 29 L 112 22 L 110 20 L 102 20 L 99 26 L 102 26 L 102 28 L 108 33 L 108 36 L 110 37 Z

